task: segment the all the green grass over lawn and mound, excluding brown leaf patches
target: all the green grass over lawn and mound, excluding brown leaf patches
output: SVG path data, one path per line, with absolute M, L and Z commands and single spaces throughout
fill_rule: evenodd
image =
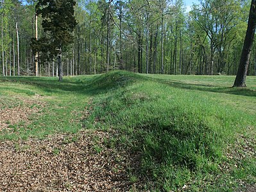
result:
M 0 77 L 0 107 L 41 95 L 46 108 L 1 139 L 41 138 L 81 129 L 117 132 L 106 145 L 140 154 L 131 182 L 150 191 L 235 191 L 255 184 L 256 77 L 230 88 L 230 76 Z M 89 109 L 86 116 L 85 107 Z M 101 147 L 94 145 L 97 153 Z M 55 153 L 55 152 L 53 152 Z

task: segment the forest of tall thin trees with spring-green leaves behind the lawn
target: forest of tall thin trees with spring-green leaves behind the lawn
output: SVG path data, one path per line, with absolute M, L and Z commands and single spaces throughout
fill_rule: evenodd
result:
M 33 46 L 47 37 L 37 4 L 1 1 L 2 76 L 58 76 L 56 55 Z M 63 74 L 235 75 L 249 10 L 250 1 L 239 0 L 200 0 L 189 9 L 182 0 L 76 1 Z M 256 45 L 248 75 L 256 75 Z

